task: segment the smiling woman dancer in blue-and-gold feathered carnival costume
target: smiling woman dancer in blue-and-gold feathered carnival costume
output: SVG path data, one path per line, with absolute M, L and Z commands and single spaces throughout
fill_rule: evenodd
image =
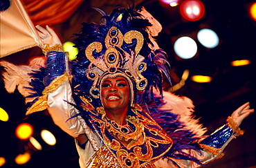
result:
M 192 105 L 184 101 L 176 108 L 165 99 L 178 97 L 163 92 L 167 60 L 152 38 L 161 30 L 152 16 L 144 9 L 99 11 L 101 23 L 83 24 L 77 35 L 80 52 L 70 68 L 55 32 L 37 26 L 47 61 L 38 72 L 45 72 L 44 80 L 32 74 L 30 97 L 36 98 L 27 114 L 48 109 L 76 139 L 81 167 L 200 167 L 220 157 L 243 133 L 241 121 L 254 111 L 249 103 L 203 137 L 205 129 L 179 111 L 191 115 Z M 42 83 L 44 91 L 35 89 Z

